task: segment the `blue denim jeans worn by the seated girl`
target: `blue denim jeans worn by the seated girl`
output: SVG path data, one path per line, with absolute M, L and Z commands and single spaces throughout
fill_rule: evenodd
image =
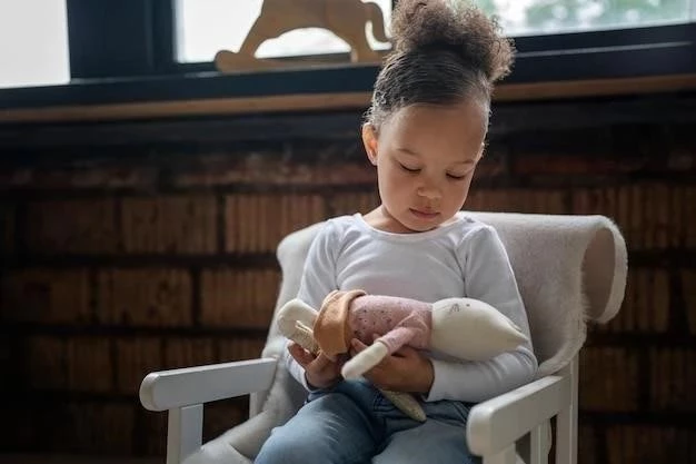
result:
M 419 423 L 367 381 L 345 381 L 310 393 L 285 425 L 274 428 L 255 464 L 478 464 L 465 427 L 471 405 L 422 403 Z

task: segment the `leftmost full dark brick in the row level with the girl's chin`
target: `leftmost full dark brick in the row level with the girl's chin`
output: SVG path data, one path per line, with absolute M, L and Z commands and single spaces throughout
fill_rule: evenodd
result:
M 27 206 L 27 247 L 37 254 L 112 254 L 118 249 L 112 199 L 40 200 Z

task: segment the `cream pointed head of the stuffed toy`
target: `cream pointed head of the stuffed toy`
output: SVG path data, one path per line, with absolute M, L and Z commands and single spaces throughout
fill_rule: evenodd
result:
M 473 298 L 432 304 L 430 347 L 467 361 L 486 361 L 517 348 L 527 335 L 503 313 Z

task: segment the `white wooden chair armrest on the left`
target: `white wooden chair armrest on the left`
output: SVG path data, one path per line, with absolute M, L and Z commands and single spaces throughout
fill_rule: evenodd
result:
M 140 384 L 140 403 L 167 411 L 268 389 L 277 362 L 259 358 L 155 372 Z

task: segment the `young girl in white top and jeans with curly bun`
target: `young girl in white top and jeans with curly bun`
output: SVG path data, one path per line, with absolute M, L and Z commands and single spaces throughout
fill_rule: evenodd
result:
M 314 307 L 334 289 L 364 289 L 432 303 L 484 300 L 529 335 L 507 254 L 495 230 L 461 213 L 481 158 L 493 82 L 513 61 L 510 43 L 468 2 L 400 0 L 394 50 L 375 85 L 362 127 L 381 205 L 330 219 L 312 243 L 298 297 Z M 365 348 L 352 343 L 354 353 Z M 286 356 L 309 392 L 274 430 L 257 464 L 463 464 L 473 403 L 533 379 L 529 344 L 488 362 L 404 348 L 361 381 L 295 344 Z M 425 423 L 405 416 L 378 388 L 420 394 Z

